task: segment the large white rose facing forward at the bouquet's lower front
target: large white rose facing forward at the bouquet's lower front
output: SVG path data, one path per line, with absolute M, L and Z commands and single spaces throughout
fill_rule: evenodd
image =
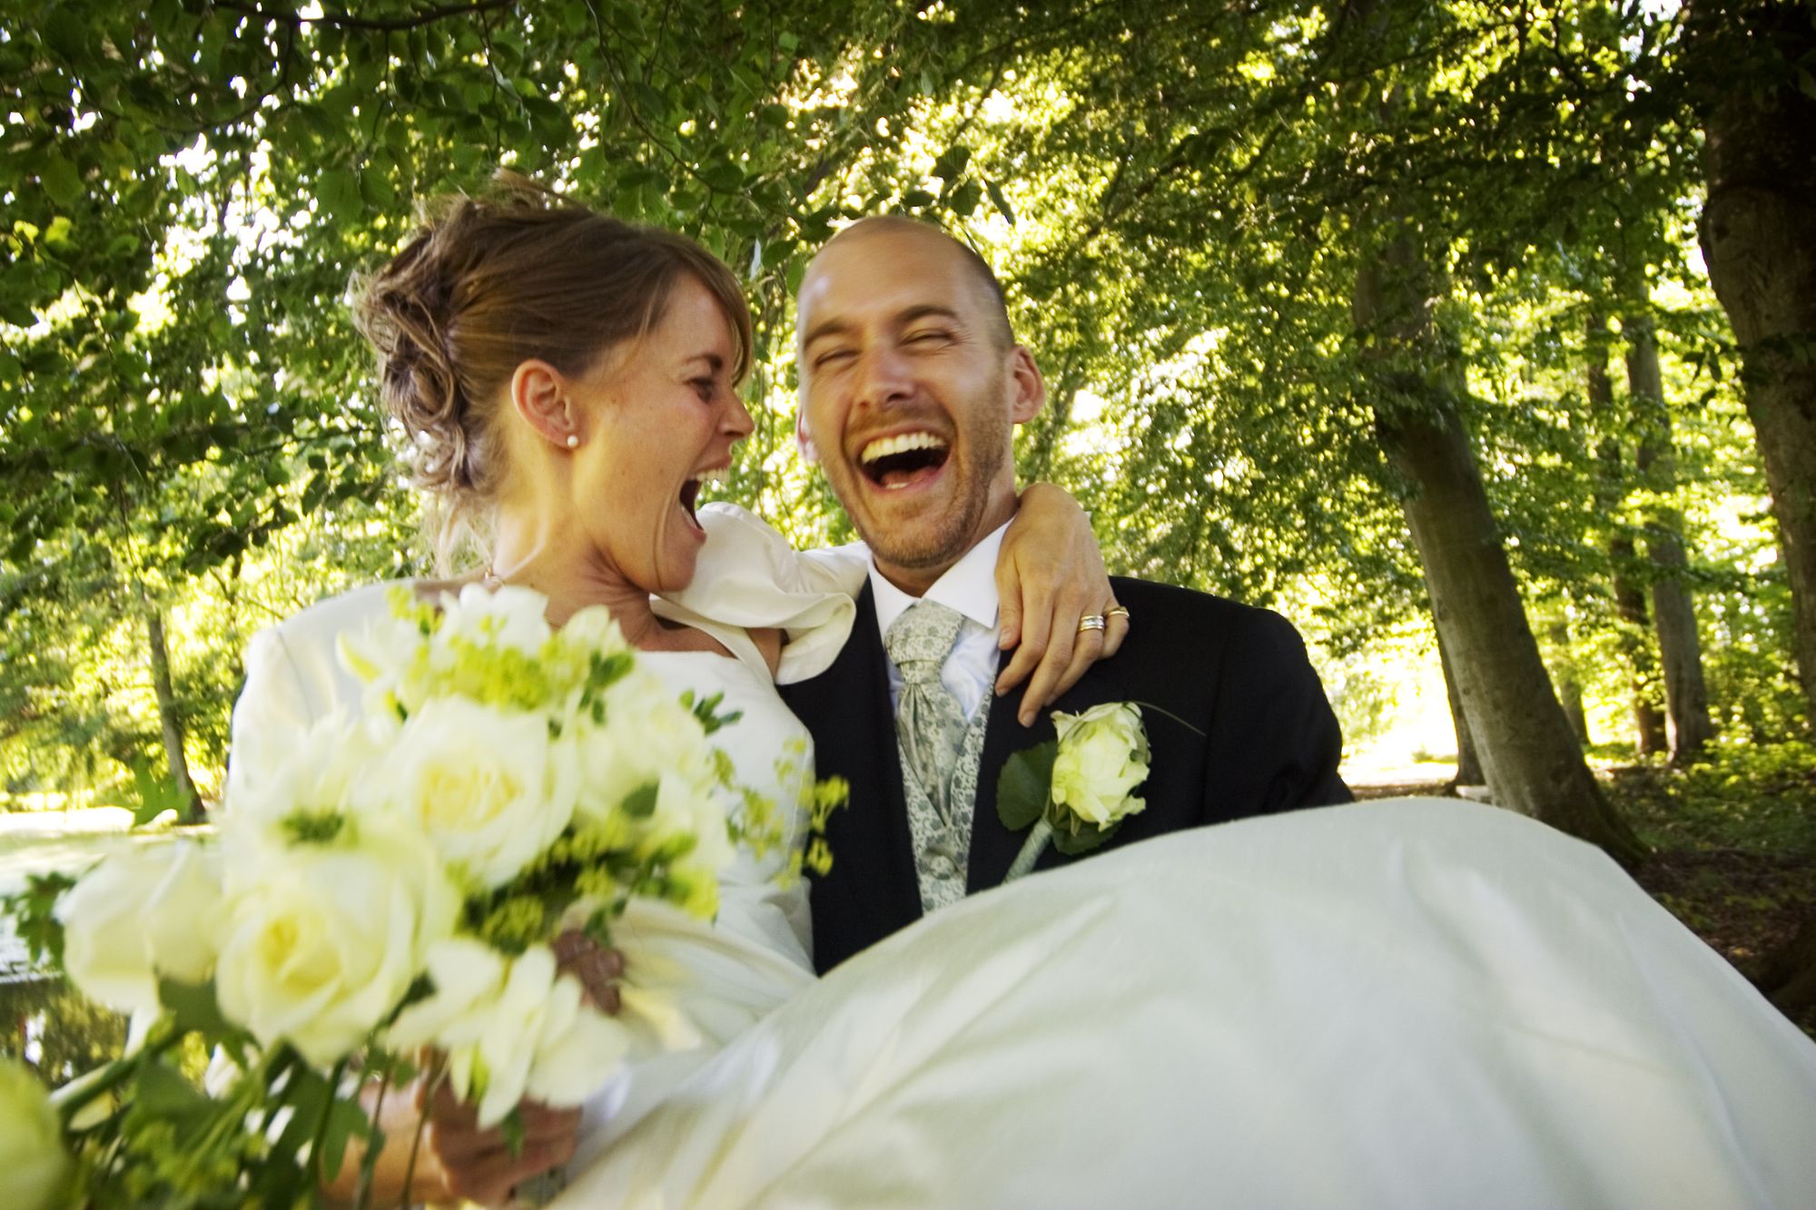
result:
M 222 1014 L 316 1066 L 390 1016 L 459 912 L 434 850 L 396 819 L 350 816 L 332 841 L 234 856 L 214 968 Z

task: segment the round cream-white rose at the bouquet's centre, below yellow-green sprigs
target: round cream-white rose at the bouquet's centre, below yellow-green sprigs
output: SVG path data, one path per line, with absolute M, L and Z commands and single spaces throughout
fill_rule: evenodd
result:
M 579 778 L 574 741 L 550 739 L 545 716 L 436 698 L 403 723 L 356 796 L 501 887 L 567 828 Z

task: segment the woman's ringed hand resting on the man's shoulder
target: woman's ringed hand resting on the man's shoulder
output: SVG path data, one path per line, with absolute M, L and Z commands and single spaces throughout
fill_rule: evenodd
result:
M 1017 649 L 997 678 L 997 692 L 1033 672 L 1019 714 L 1022 727 L 1030 727 L 1088 667 L 1117 654 L 1130 629 L 1126 610 L 1110 612 L 1117 598 L 1091 518 L 1062 489 L 1035 483 L 1022 492 L 997 556 L 997 592 L 999 645 Z M 1095 614 L 1104 616 L 1104 629 L 1081 630 L 1079 623 Z

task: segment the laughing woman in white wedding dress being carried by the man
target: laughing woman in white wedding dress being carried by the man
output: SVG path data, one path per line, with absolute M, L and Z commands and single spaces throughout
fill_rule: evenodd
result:
M 717 739 L 786 799 L 812 759 L 772 678 L 837 652 L 863 563 L 696 509 L 750 431 L 723 265 L 570 205 L 458 202 L 361 309 L 419 481 L 490 525 L 485 581 L 543 592 L 556 623 L 607 603 L 656 672 L 741 710 Z M 1064 509 L 1022 509 L 1019 538 L 1068 550 L 1050 565 L 1088 540 Z M 1108 603 L 1095 578 L 1042 600 L 1071 618 L 1081 592 Z M 334 643 L 383 600 L 254 641 L 231 778 L 358 692 Z M 1037 676 L 1097 654 L 1050 650 Z M 581 1114 L 528 1106 L 521 1150 L 436 1103 L 416 1188 L 501 1201 L 565 1165 L 572 1206 L 1816 1205 L 1816 1046 L 1529 819 L 1413 799 L 1128 845 L 824 979 L 783 859 L 741 854 L 714 927 L 614 930 L 625 977 L 672 985 L 705 1046 Z M 394 1112 L 409 1137 L 419 1110 Z

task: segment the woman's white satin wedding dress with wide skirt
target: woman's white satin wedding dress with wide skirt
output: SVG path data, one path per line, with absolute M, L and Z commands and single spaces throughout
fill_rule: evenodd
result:
M 743 710 L 716 739 L 759 787 L 803 730 L 705 620 L 788 625 L 785 672 L 812 674 L 855 583 L 777 561 L 726 556 L 672 610 L 743 661 L 650 661 Z M 381 607 L 262 636 L 236 747 L 345 692 L 332 636 Z M 588 1105 L 558 1205 L 1816 1206 L 1816 1045 L 1598 850 L 1509 812 L 1400 799 L 1130 845 L 817 981 L 772 872 L 746 854 L 717 927 L 623 923 L 706 1043 Z

